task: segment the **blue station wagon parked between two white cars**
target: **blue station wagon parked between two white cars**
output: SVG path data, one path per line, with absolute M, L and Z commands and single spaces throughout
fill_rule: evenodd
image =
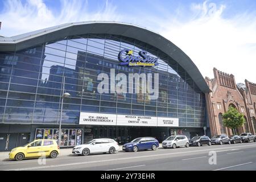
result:
M 123 151 L 133 151 L 137 152 L 139 150 L 156 150 L 159 147 L 159 142 L 157 139 L 152 137 L 142 137 L 136 138 L 130 143 L 126 143 L 123 145 Z

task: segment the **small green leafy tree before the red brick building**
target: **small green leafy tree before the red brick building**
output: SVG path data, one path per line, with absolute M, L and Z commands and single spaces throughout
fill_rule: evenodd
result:
M 242 127 L 245 123 L 245 117 L 243 114 L 239 113 L 234 107 L 229 107 L 228 111 L 222 115 L 223 124 L 225 127 L 232 129 L 233 133 L 236 133 L 235 129 Z

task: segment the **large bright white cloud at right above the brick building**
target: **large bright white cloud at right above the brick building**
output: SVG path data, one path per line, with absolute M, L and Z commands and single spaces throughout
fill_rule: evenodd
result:
M 218 8 L 217 8 L 218 7 Z M 168 20 L 162 34 L 181 48 L 203 76 L 213 78 L 213 67 L 232 73 L 236 82 L 256 82 L 256 18 L 250 14 L 223 18 L 225 5 L 193 4 L 188 22 Z M 167 21 L 167 22 L 168 22 Z

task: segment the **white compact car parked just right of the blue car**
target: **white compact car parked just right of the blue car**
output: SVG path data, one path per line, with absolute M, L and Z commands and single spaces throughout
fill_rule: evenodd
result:
M 189 140 L 183 135 L 171 136 L 163 141 L 162 146 L 163 148 L 189 147 Z

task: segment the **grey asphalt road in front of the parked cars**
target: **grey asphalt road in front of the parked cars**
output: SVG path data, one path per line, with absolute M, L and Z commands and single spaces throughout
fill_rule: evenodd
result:
M 72 151 L 72 149 L 71 149 Z M 216 156 L 216 158 L 214 158 Z M 215 160 L 216 159 L 216 160 Z M 212 164 L 209 164 L 210 163 Z M 0 170 L 97 170 L 97 171 L 224 171 L 256 170 L 256 143 L 225 144 L 156 151 L 63 155 L 56 159 L 4 160 Z

